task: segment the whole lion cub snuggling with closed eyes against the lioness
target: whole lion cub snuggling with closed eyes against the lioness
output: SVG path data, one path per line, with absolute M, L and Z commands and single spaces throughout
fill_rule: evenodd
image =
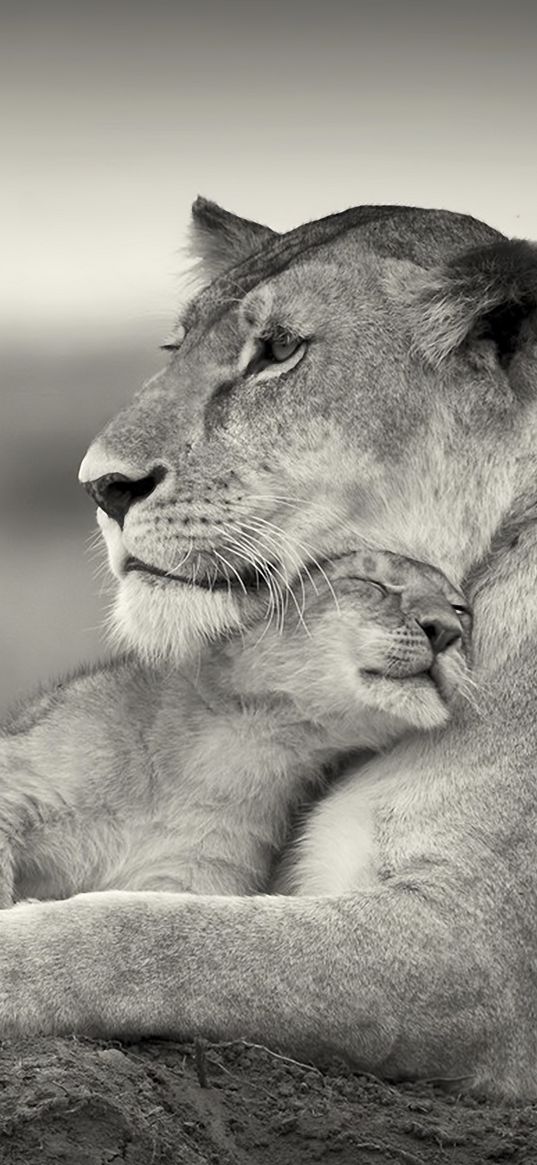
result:
M 255 621 L 181 671 L 115 661 L 6 729 L 3 905 L 262 891 L 327 764 L 447 721 L 467 612 L 440 573 L 359 551 L 292 594 L 281 627 Z

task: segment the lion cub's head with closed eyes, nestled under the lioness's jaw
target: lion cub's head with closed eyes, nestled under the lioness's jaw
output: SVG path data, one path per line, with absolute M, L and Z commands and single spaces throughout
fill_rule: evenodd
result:
M 446 723 L 466 694 L 469 608 L 433 567 L 353 551 L 291 600 L 281 628 L 254 626 L 226 649 L 245 693 L 284 693 L 305 719 L 367 748 Z

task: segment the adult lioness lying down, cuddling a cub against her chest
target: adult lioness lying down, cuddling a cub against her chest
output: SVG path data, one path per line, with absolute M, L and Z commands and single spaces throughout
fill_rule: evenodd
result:
M 345 777 L 320 894 L 3 911 L 1 1031 L 243 1037 L 535 1095 L 537 253 L 398 207 L 193 224 L 209 287 L 80 471 L 121 635 L 172 668 L 240 633 L 254 569 L 277 598 L 382 546 L 467 577 L 486 709 Z

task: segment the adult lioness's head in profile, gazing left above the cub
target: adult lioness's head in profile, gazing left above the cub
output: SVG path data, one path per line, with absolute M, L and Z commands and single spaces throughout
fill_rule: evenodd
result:
M 361 542 L 458 581 L 535 478 L 536 252 L 437 211 L 193 207 L 209 285 L 90 447 L 116 623 L 183 655 Z

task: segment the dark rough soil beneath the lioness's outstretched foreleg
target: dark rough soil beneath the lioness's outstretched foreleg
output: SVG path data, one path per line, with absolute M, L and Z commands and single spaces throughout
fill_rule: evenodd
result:
M 535 1104 L 395 1087 L 241 1042 L 5 1043 L 0 1097 L 1 1165 L 537 1163 Z

